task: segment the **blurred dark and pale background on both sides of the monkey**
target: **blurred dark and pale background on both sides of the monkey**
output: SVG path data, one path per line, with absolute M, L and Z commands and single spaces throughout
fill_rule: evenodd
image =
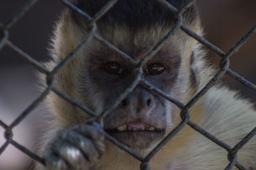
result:
M 26 0 L 1 0 L 0 23 L 4 24 Z M 205 38 L 224 52 L 256 24 L 255 0 L 198 0 Z M 12 43 L 42 61 L 47 59 L 47 44 L 52 25 L 63 8 L 61 1 L 38 1 L 9 31 Z M 218 66 L 220 56 L 208 52 L 207 57 Z M 256 83 L 256 35 L 230 58 L 230 67 L 247 80 Z M 226 75 L 221 81 L 242 96 L 256 103 L 256 92 Z M 36 87 L 35 69 L 7 46 L 0 50 L 0 120 L 10 125 L 31 104 L 40 92 Z M 44 104 L 36 107 L 13 129 L 13 138 L 34 150 L 40 137 L 40 124 L 48 114 Z M 0 147 L 4 144 L 4 129 L 0 126 Z M 31 159 L 9 145 L 0 155 L 0 170 L 28 169 Z

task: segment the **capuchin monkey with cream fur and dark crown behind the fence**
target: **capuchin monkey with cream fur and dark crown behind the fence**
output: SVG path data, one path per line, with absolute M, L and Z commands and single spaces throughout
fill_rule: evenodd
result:
M 184 4 L 179 0 L 168 2 L 177 9 Z M 93 16 L 108 1 L 70 3 Z M 158 1 L 120 0 L 97 21 L 97 34 L 139 62 L 172 29 L 173 17 Z M 182 17 L 184 25 L 204 36 L 195 5 Z M 49 70 L 86 37 L 86 23 L 76 11 L 63 11 L 54 29 L 52 60 L 45 62 Z M 56 73 L 55 85 L 96 114 L 113 103 L 136 77 L 134 64 L 95 38 L 75 55 Z M 142 77 L 186 104 L 218 72 L 204 56 L 200 43 L 179 30 L 143 66 Z M 39 146 L 46 166 L 38 164 L 37 169 L 140 169 L 140 161 L 104 139 L 103 131 L 146 156 L 182 120 L 175 104 L 141 83 L 104 117 L 102 127 L 86 124 L 89 115 L 53 92 L 47 103 L 52 117 Z M 253 104 L 223 85 L 212 87 L 189 112 L 193 122 L 231 147 L 256 125 Z M 186 125 L 150 159 L 149 165 L 150 169 L 224 169 L 229 163 L 227 155 L 227 150 Z M 237 160 L 256 169 L 256 138 L 239 150 Z

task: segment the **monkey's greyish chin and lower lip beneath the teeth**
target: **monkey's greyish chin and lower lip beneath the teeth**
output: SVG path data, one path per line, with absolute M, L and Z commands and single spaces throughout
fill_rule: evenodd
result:
M 118 132 L 107 130 L 108 134 L 113 136 L 124 145 L 129 146 L 137 151 L 148 150 L 152 146 L 159 143 L 164 138 L 165 129 L 157 129 L 157 131 L 124 131 Z

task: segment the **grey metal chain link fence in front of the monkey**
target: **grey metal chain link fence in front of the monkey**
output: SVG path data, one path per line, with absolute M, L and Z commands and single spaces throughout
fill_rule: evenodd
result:
M 239 143 L 237 143 L 237 145 L 235 145 L 234 147 L 231 147 L 231 146 L 227 145 L 227 143 L 225 143 L 224 141 L 221 141 L 221 139 L 216 138 L 216 136 L 214 136 L 211 133 L 205 131 L 205 129 L 203 129 L 199 125 L 195 124 L 194 122 L 192 122 L 189 119 L 189 108 L 191 108 L 191 106 L 193 106 L 193 104 L 195 104 L 196 101 L 198 101 L 198 99 L 200 99 L 200 97 L 202 97 L 207 92 L 207 90 L 209 90 L 216 83 L 216 81 L 220 80 L 220 78 L 224 74 L 228 74 L 228 75 L 232 76 L 234 79 L 236 79 L 237 81 L 239 81 L 240 83 L 242 83 L 244 86 L 246 86 L 246 87 L 248 87 L 252 90 L 256 90 L 256 85 L 255 84 L 251 83 L 250 81 L 246 80 L 245 78 L 243 78 L 242 76 L 240 76 L 236 72 L 232 71 L 229 67 L 230 66 L 230 59 L 229 59 L 230 56 L 233 55 L 235 52 L 237 52 L 237 50 L 239 50 L 239 48 L 246 42 L 246 40 L 248 38 L 250 38 L 253 35 L 253 33 L 256 32 L 256 25 L 254 27 L 252 27 L 252 29 L 250 31 L 248 31 L 243 36 L 243 38 L 241 38 L 234 46 L 232 46 L 232 48 L 230 50 L 228 50 L 227 53 L 225 53 L 220 48 L 218 48 L 218 46 L 212 45 L 212 43 L 210 43 L 206 39 L 202 38 L 201 36 L 198 36 L 198 34 L 191 31 L 188 27 L 186 27 L 186 25 L 184 25 L 182 23 L 182 15 L 181 14 L 187 8 L 189 8 L 189 6 L 191 6 L 194 3 L 193 0 L 186 1 L 184 6 L 182 6 L 182 8 L 180 8 L 180 10 L 177 10 L 177 8 L 175 8 L 172 4 L 170 4 L 170 3 L 168 3 L 164 0 L 156 0 L 156 1 L 159 1 L 159 3 L 161 3 L 163 6 L 168 7 L 168 9 L 170 11 L 172 11 L 172 13 L 175 14 L 175 19 L 174 19 L 175 20 L 175 25 L 168 32 L 168 34 L 166 34 L 166 36 L 161 41 L 159 41 L 159 43 L 157 43 L 157 45 L 154 48 L 152 48 L 152 50 L 150 50 L 150 52 L 148 52 L 147 55 L 145 55 L 145 57 L 143 59 L 140 60 L 140 62 L 135 62 L 129 55 L 127 55 L 126 53 L 124 53 L 121 50 L 119 50 L 118 48 L 116 48 L 116 46 L 111 45 L 111 43 L 109 43 L 108 41 L 106 41 L 106 39 L 100 37 L 99 34 L 96 33 L 96 31 L 97 31 L 97 25 L 96 25 L 97 20 L 99 20 L 99 18 L 101 18 L 110 8 L 112 8 L 113 5 L 118 2 L 118 0 L 108 1 L 108 3 L 106 3 L 106 5 L 103 8 L 101 8 L 92 17 L 90 17 L 88 14 L 84 13 L 83 11 L 79 10 L 79 8 L 74 6 L 69 1 L 63 0 L 62 2 L 63 2 L 63 4 L 65 4 L 65 6 L 67 6 L 68 8 L 76 11 L 77 13 L 80 13 L 80 15 L 83 15 L 83 17 L 88 20 L 88 27 L 90 27 L 90 31 L 88 31 L 88 34 L 83 39 L 83 41 L 81 41 L 79 43 L 79 45 L 76 46 L 76 48 L 74 48 L 74 50 L 69 55 L 67 55 L 67 57 L 65 57 L 65 59 L 61 60 L 61 62 L 56 67 L 54 67 L 54 69 L 52 71 L 49 71 L 42 64 L 40 64 L 40 62 L 33 59 L 33 57 L 29 56 L 28 53 L 22 51 L 18 46 L 15 46 L 8 39 L 8 29 L 10 29 L 10 27 L 12 27 L 12 25 L 15 24 L 15 22 L 17 22 L 17 20 L 19 20 L 19 18 L 22 17 L 22 15 L 24 15 L 24 13 L 26 13 L 26 11 L 29 10 L 29 8 L 32 8 L 33 5 L 36 3 L 36 1 L 37 0 L 27 1 L 27 3 L 24 4 L 24 6 L 22 6 L 22 8 L 20 8 L 20 10 L 17 11 L 15 13 L 15 15 L 13 15 L 13 17 L 10 20 L 8 20 L 8 22 L 6 22 L 5 24 L 0 25 L 0 50 L 1 50 L 1 48 L 3 48 L 3 46 L 8 46 L 8 48 L 10 48 L 14 52 L 18 53 L 20 55 L 20 57 L 25 59 L 29 64 L 31 64 L 32 66 L 35 66 L 36 69 L 45 73 L 46 76 L 47 76 L 47 88 L 44 90 L 44 92 L 42 92 L 40 97 L 38 97 L 35 101 L 33 101 L 33 103 L 31 103 L 28 106 L 28 108 L 26 108 L 26 110 L 24 110 L 22 113 L 20 113 L 19 117 L 17 117 L 12 122 L 12 124 L 7 125 L 5 122 L 0 120 L 1 127 L 3 127 L 5 129 L 4 136 L 6 138 L 6 141 L 5 141 L 4 145 L 0 146 L 0 155 L 1 155 L 1 153 L 4 152 L 4 150 L 6 149 L 6 147 L 8 145 L 13 145 L 16 148 L 19 148 L 20 151 L 22 151 L 23 153 L 25 153 L 26 155 L 28 155 L 32 159 L 35 159 L 36 161 L 40 162 L 41 164 L 45 164 L 45 161 L 42 157 L 39 157 L 35 153 L 31 152 L 31 150 L 28 150 L 28 148 L 20 145 L 19 142 L 15 141 L 13 139 L 12 130 L 15 126 L 20 124 L 20 122 L 22 122 L 22 120 L 24 120 L 29 115 L 29 113 L 31 113 L 31 111 L 36 106 L 38 106 L 38 104 L 42 103 L 42 101 L 49 94 L 49 92 L 52 91 L 55 94 L 57 94 L 58 96 L 63 97 L 63 99 L 65 99 L 65 100 L 69 101 L 70 103 L 74 104 L 74 106 L 77 106 L 78 108 L 81 108 L 81 110 L 83 110 L 84 112 L 91 115 L 93 117 L 93 120 L 101 121 L 102 118 L 105 115 L 107 115 L 109 112 L 111 112 L 111 110 L 113 110 L 113 108 L 115 108 L 123 99 L 125 99 L 125 97 L 130 92 L 132 92 L 132 90 L 138 85 L 138 83 L 141 83 L 145 87 L 148 87 L 148 89 L 153 90 L 154 92 L 156 92 L 160 96 L 163 96 L 166 100 L 171 101 L 172 103 L 176 104 L 181 110 L 180 117 L 182 118 L 182 121 L 180 122 L 180 124 L 177 127 L 175 127 L 175 129 L 173 129 L 173 131 L 170 132 L 163 139 L 163 141 L 161 141 L 161 143 L 159 143 L 159 145 L 156 146 L 156 148 L 154 148 L 154 150 L 152 150 L 150 153 L 148 153 L 148 155 L 146 157 L 141 156 L 139 153 L 135 152 L 131 148 L 125 146 L 124 144 L 120 143 L 115 138 L 109 136 L 109 134 L 104 132 L 104 135 L 105 135 L 106 139 L 108 139 L 109 141 L 114 143 L 120 149 L 125 150 L 125 152 L 130 153 L 134 157 L 134 159 L 140 160 L 140 162 L 141 162 L 141 167 L 140 168 L 141 169 L 149 169 L 150 167 L 148 165 L 148 162 L 150 161 L 150 159 L 152 159 L 152 157 L 154 157 L 154 155 L 156 155 L 156 153 L 166 143 L 168 143 L 168 141 L 170 141 L 170 139 L 172 139 L 173 136 L 175 136 L 175 134 L 177 134 L 184 127 L 184 125 L 186 125 L 186 124 L 188 124 L 191 128 L 195 129 L 195 131 L 204 135 L 205 138 L 210 139 L 213 143 L 216 143 L 218 146 L 227 150 L 228 160 L 230 161 L 230 163 L 227 165 L 227 167 L 225 167 L 225 169 L 231 169 L 234 166 L 236 166 L 238 169 L 247 169 L 246 165 L 240 164 L 237 161 L 237 152 L 239 152 L 239 150 L 244 145 L 246 145 L 246 143 L 248 143 L 248 141 L 250 141 L 250 139 L 252 139 L 253 136 L 256 135 L 256 127 L 251 132 L 248 132 L 247 136 L 245 136 L 241 141 L 239 141 Z M 161 47 L 164 45 L 164 43 L 170 37 L 172 37 L 172 35 L 175 34 L 175 32 L 179 29 L 184 31 L 189 36 L 195 38 L 197 41 L 202 43 L 202 45 L 206 46 L 207 48 L 209 48 L 213 52 L 217 53 L 221 57 L 221 59 L 220 59 L 220 71 L 214 77 L 212 77 L 211 81 L 209 81 L 207 83 L 207 85 L 205 85 L 205 87 L 200 92 L 198 92 L 198 94 L 196 94 L 196 96 L 193 97 L 193 99 L 191 99 L 191 101 L 189 101 L 189 103 L 186 104 L 186 105 L 181 103 L 179 100 L 173 98 L 172 96 L 170 96 L 168 94 L 165 94 L 161 89 L 157 89 L 157 87 L 154 87 L 154 85 L 150 84 L 148 81 L 144 80 L 141 77 L 142 66 L 147 62 L 147 60 L 149 60 L 154 54 L 156 54 L 156 52 L 159 49 L 161 49 Z M 81 46 L 83 46 L 85 43 L 90 41 L 90 39 L 96 39 L 97 41 L 99 41 L 103 45 L 108 46 L 108 48 L 111 48 L 112 50 L 115 50 L 116 52 L 120 53 L 120 55 L 122 55 L 122 57 L 124 57 L 125 59 L 130 60 L 134 64 L 134 66 L 139 68 L 138 72 L 137 72 L 137 75 L 136 75 L 136 78 L 134 78 L 131 85 L 129 85 L 129 87 L 124 92 L 122 92 L 122 94 L 120 94 L 120 96 L 117 97 L 116 100 L 112 104 L 110 104 L 105 110 L 103 110 L 102 113 L 100 113 L 99 115 L 96 115 L 92 110 L 90 110 L 89 108 L 84 106 L 82 103 L 77 102 L 75 99 L 68 96 L 64 92 L 61 92 L 59 89 L 57 89 L 54 86 L 54 80 L 55 80 L 54 75 L 61 69 L 61 67 L 65 66 L 68 62 L 70 62 L 70 60 L 72 60 L 75 57 L 75 54 L 79 50 L 79 48 L 81 48 Z

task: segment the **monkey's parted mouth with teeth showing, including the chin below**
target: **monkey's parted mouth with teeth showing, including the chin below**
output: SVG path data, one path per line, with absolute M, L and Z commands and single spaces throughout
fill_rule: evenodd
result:
M 163 139 L 166 130 L 142 122 L 130 122 L 105 131 L 130 148 L 144 150 Z

